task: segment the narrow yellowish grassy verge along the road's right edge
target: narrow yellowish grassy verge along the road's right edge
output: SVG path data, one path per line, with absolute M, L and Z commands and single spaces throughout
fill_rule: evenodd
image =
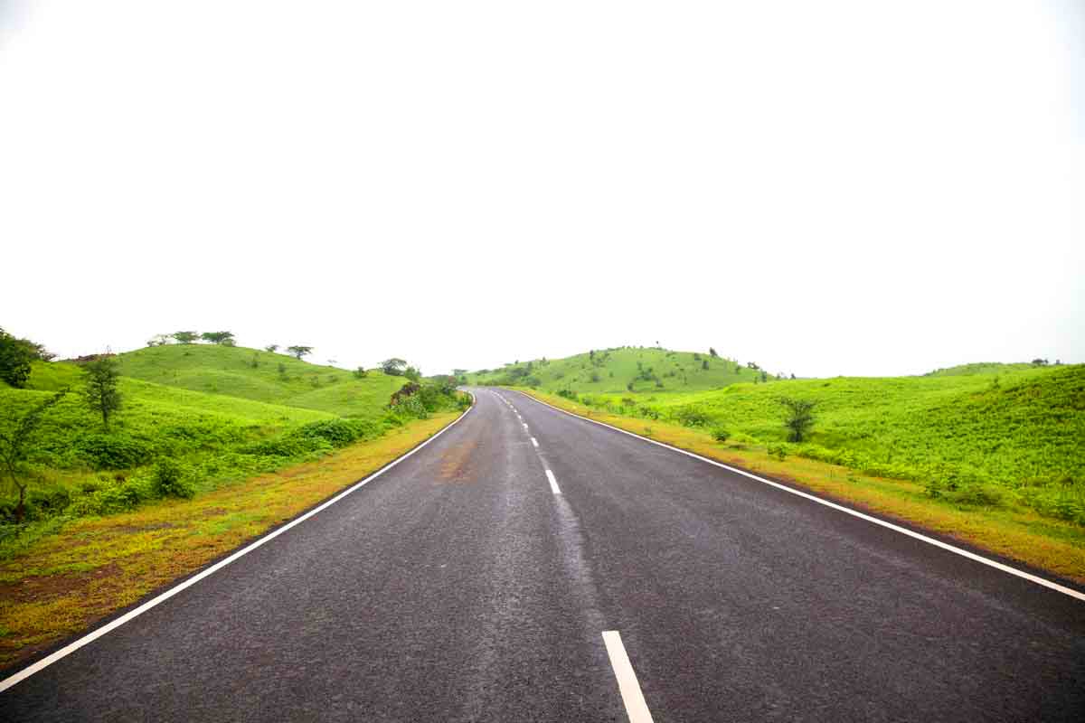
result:
M 969 506 L 929 496 L 921 483 L 859 474 L 815 460 L 770 455 L 767 447 L 722 444 L 711 434 L 592 409 L 557 395 L 518 389 L 559 409 L 679 447 L 819 495 L 918 525 L 992 553 L 1085 583 L 1085 528 L 1027 508 Z

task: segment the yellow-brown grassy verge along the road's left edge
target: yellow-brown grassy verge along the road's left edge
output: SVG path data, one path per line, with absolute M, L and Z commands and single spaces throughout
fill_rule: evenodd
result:
M 181 578 L 348 487 L 451 423 L 434 414 L 317 462 L 69 522 L 0 563 L 0 668 Z

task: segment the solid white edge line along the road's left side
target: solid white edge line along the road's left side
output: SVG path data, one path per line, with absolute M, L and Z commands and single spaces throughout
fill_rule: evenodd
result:
M 468 392 L 468 393 L 471 393 L 471 392 Z M 292 527 L 294 527 L 296 525 L 301 525 L 302 522 L 304 522 L 308 518 L 312 517 L 317 513 L 319 513 L 319 512 L 321 512 L 323 509 L 327 509 L 328 507 L 332 506 L 333 504 L 335 504 L 336 502 L 339 502 L 340 500 L 342 500 L 346 495 L 350 494 L 355 490 L 361 488 L 365 485 L 368 485 L 372 480 L 376 479 L 378 477 L 380 477 L 381 475 L 383 475 L 384 473 L 386 473 L 388 469 L 392 469 L 393 467 L 395 467 L 397 464 L 399 464 L 400 462 L 403 462 L 407 457 L 411 456 L 416 452 L 421 451 L 421 449 L 423 447 L 425 447 L 426 444 L 429 444 L 430 442 L 432 442 L 433 440 L 435 440 L 437 437 L 441 437 L 443 434 L 445 434 L 446 431 L 448 431 L 449 429 L 451 429 L 454 426 L 456 426 L 460 422 L 460 419 L 462 419 L 463 417 L 465 417 L 468 415 L 468 413 L 471 410 L 474 409 L 475 401 L 477 401 L 477 400 L 475 400 L 475 396 L 474 395 L 471 395 L 471 399 L 473 400 L 472 403 L 471 403 L 471 406 L 469 406 L 467 409 L 467 411 L 463 412 L 463 414 L 461 414 L 458 417 L 456 417 L 448 426 L 446 426 L 444 429 L 442 429 L 437 434 L 435 434 L 432 437 L 430 437 L 427 440 L 425 440 L 424 442 L 422 442 L 421 444 L 419 444 L 418 447 L 416 447 L 411 451 L 407 452 L 406 454 L 404 454 L 401 456 L 396 457 L 395 460 L 393 460 L 388 464 L 384 465 L 383 467 L 381 467 L 380 469 L 378 469 L 376 472 L 374 472 L 373 474 L 371 474 L 369 477 L 366 477 L 361 481 L 355 482 L 353 486 L 350 486 L 346 490 L 340 492 L 339 494 L 336 494 L 335 496 L 333 496 L 331 500 L 328 500 L 327 502 L 322 503 L 320 506 L 314 507 L 312 509 L 310 509 L 309 512 L 305 513 L 301 517 L 297 517 L 297 518 L 295 518 L 295 519 L 286 522 L 282 527 L 276 529 L 276 530 L 272 530 L 271 532 L 268 532 L 263 538 L 259 538 L 258 540 L 256 540 L 254 542 L 251 542 L 248 545 L 246 545 L 245 547 L 243 547 L 243 548 L 239 550 L 238 552 L 233 553 L 232 555 L 230 555 L 226 559 L 221 559 L 218 563 L 215 563 L 214 565 L 212 565 L 210 567 L 208 567 L 206 570 L 197 572 L 196 574 L 192 576 L 191 578 L 189 578 L 184 582 L 181 582 L 181 583 L 179 583 L 179 584 L 170 588 L 166 592 L 164 592 L 164 593 L 162 593 L 162 594 L 153 597 L 152 599 L 149 599 L 148 602 L 145 602 L 142 605 L 140 605 L 138 608 L 136 608 L 133 610 L 129 610 L 128 612 L 124 614 L 123 616 L 120 616 L 116 620 L 113 620 L 112 622 L 108 622 L 108 623 L 102 625 L 101 628 L 99 628 L 98 630 L 94 630 L 93 632 L 87 633 L 86 635 L 84 635 L 82 637 L 80 637 L 77 641 L 73 641 L 72 643 L 68 643 L 67 645 L 65 645 L 64 647 L 62 647 L 60 650 L 56 650 L 52 655 L 49 655 L 49 656 L 42 658 L 41 660 L 39 660 L 38 662 L 34 663 L 33 666 L 28 666 L 28 667 L 24 668 L 23 670 L 18 671 L 17 673 L 15 673 L 14 675 L 5 677 L 4 680 L 0 681 L 0 693 L 3 693 L 4 690 L 7 690 L 11 686 L 15 685 L 16 683 L 21 683 L 22 681 L 25 681 L 30 675 L 34 675 L 35 673 L 37 673 L 37 672 L 39 672 L 41 670 L 44 670 L 46 668 L 48 668 L 49 666 L 53 664 L 54 662 L 56 662 L 61 658 L 64 658 L 66 656 L 72 655 L 73 653 L 75 653 L 76 650 L 78 650 L 79 648 L 81 648 L 82 646 L 88 645 L 90 643 L 93 643 L 94 641 L 97 641 L 102 635 L 105 635 L 106 633 L 112 632 L 113 630 L 116 630 L 117 628 L 119 628 L 120 625 L 125 624 L 129 620 L 132 620 L 132 619 L 135 619 L 135 618 L 143 615 L 144 612 L 146 612 L 151 608 L 153 608 L 153 607 L 155 607 L 157 605 L 161 605 L 162 603 L 165 603 L 167 599 L 169 599 L 170 597 L 173 597 L 177 593 L 181 592 L 182 590 L 186 590 L 187 588 L 191 588 L 195 583 L 200 582 L 201 580 L 203 580 L 204 578 L 206 578 L 206 577 L 208 577 L 210 574 L 214 574 L 215 572 L 217 572 L 218 570 L 222 569 L 224 567 L 226 567 L 230 563 L 234 561 L 239 557 L 242 557 L 243 555 L 247 555 L 248 553 L 253 552 L 254 550 L 256 550 L 260 545 L 265 544 L 266 542 L 270 542 L 271 540 L 275 540 L 280 534 L 282 534 L 286 530 L 291 529 Z

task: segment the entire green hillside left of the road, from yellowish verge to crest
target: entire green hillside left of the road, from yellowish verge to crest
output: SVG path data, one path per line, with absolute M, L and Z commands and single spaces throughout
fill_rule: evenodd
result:
M 35 362 L 24 389 L 0 383 L 0 430 L 52 392 L 72 389 L 36 434 L 24 475 L 31 480 L 27 519 L 120 512 L 155 496 L 209 491 L 457 404 L 434 390 L 390 410 L 404 377 L 373 371 L 357 378 L 240 347 L 173 345 L 116 359 L 123 405 L 108 429 L 84 402 L 84 373 L 74 362 Z M 169 469 L 181 480 L 173 492 L 162 481 Z M 16 500 L 14 488 L 0 489 L 0 547 L 22 534 L 12 524 Z

